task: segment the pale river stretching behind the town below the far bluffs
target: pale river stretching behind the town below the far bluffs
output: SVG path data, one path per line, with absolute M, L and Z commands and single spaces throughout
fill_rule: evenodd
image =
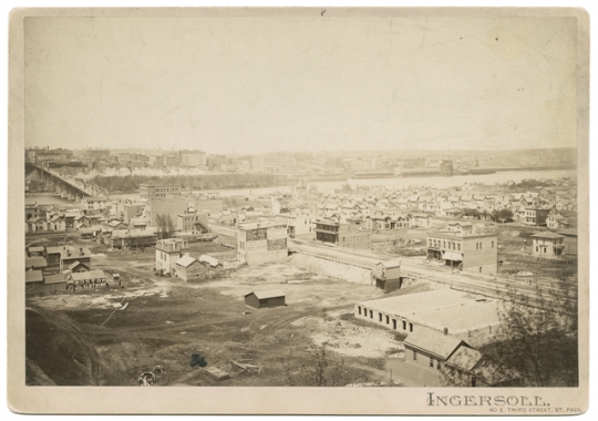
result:
M 334 181 L 334 182 L 315 182 L 309 185 L 316 185 L 320 192 L 332 191 L 334 188 L 342 187 L 343 184 L 349 183 L 351 187 L 358 186 L 384 186 L 386 188 L 401 189 L 410 186 L 434 186 L 436 188 L 448 188 L 462 186 L 466 183 L 484 183 L 487 185 L 506 183 L 508 181 L 520 182 L 526 178 L 532 179 L 556 179 L 560 177 L 577 177 L 576 170 L 563 170 L 563 171 L 517 171 L 517 172 L 501 172 L 494 174 L 481 174 L 481 175 L 454 175 L 452 177 L 396 177 L 396 178 L 365 178 L 365 179 L 352 179 L 348 181 Z M 292 186 L 278 186 L 278 187 L 258 187 L 258 188 L 230 188 L 230 189 L 209 189 L 209 191 L 196 191 L 194 193 L 205 192 L 219 192 L 221 197 L 233 196 L 260 196 L 269 193 L 281 192 L 291 193 Z M 137 199 L 140 197 L 136 193 L 122 193 L 113 194 L 111 198 L 131 198 Z M 25 195 L 25 203 L 51 204 L 51 203 L 72 203 L 69 199 L 61 198 L 60 195 L 52 193 L 30 193 Z

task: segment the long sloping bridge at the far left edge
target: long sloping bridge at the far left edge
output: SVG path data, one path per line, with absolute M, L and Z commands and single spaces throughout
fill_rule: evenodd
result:
M 107 189 L 62 174 L 60 171 L 50 170 L 33 163 L 25 163 L 25 175 L 35 173 L 38 178 L 45 185 L 47 191 L 54 191 L 60 197 L 69 201 L 81 202 L 89 196 L 109 196 Z

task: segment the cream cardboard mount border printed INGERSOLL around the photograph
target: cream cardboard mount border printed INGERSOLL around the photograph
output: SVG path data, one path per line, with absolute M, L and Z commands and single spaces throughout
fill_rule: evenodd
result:
M 312 17 L 320 8 L 54 8 L 14 9 L 9 22 L 8 177 L 8 403 L 19 413 L 103 414 L 507 414 L 466 404 L 466 396 L 528 397 L 546 408 L 589 404 L 589 230 L 579 229 L 578 388 L 275 388 L 275 387 L 28 387 L 24 381 L 24 57 L 28 17 Z M 589 226 L 589 16 L 580 8 L 328 8 L 351 17 L 570 17 L 578 20 L 578 208 Z M 461 397 L 446 407 L 429 404 L 430 393 Z M 475 398 L 480 400 L 480 398 Z M 518 407 L 520 408 L 520 407 Z M 539 414 L 539 413 L 538 413 Z M 547 414 L 547 413 L 542 413 Z M 554 414 L 554 412 L 551 413 Z M 565 413 L 566 414 L 566 413 Z M 573 414 L 573 413 L 570 413 Z

